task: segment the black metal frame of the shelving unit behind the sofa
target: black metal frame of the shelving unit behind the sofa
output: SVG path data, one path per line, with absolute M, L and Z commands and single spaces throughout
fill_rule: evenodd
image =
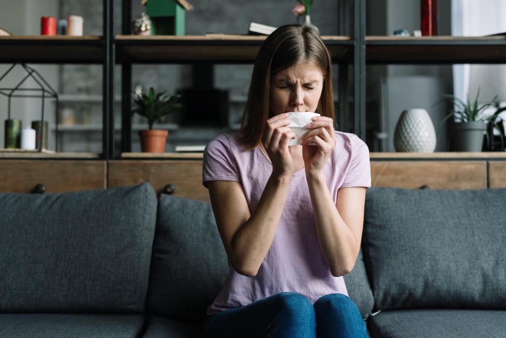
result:
M 131 33 L 131 22 L 132 22 L 132 4 L 131 0 L 122 0 L 122 34 L 129 35 Z M 406 41 L 366 41 L 365 39 L 365 13 L 366 13 L 366 0 L 338 0 L 338 33 L 340 35 L 351 36 L 351 40 L 347 42 L 328 42 L 328 45 L 346 45 L 347 53 L 344 57 L 338 57 L 333 60 L 339 64 L 339 108 L 338 123 L 339 130 L 346 132 L 353 132 L 358 135 L 362 140 L 365 141 L 365 65 L 366 63 L 416 63 L 416 64 L 430 64 L 430 63 L 459 63 L 466 61 L 468 63 L 504 63 L 504 60 L 499 56 L 487 56 L 486 54 L 478 55 L 476 59 L 469 60 L 465 57 L 455 57 L 449 59 L 438 59 L 430 58 L 428 60 L 409 60 L 405 56 L 394 55 L 388 60 L 374 60 L 372 56 L 372 48 L 381 48 L 382 46 L 483 46 L 484 48 L 500 49 L 501 53 L 506 53 L 506 41 L 504 40 L 406 40 Z M 132 64 L 137 63 L 138 60 L 129 59 L 122 53 L 125 46 L 142 46 L 144 44 L 157 45 L 157 44 L 170 44 L 174 46 L 180 45 L 191 45 L 191 46 L 231 46 L 237 45 L 237 42 L 220 41 L 219 43 L 214 41 L 171 41 L 171 42 L 156 42 L 156 41 L 136 41 L 135 43 L 123 42 L 121 40 L 115 40 L 114 32 L 114 0 L 104 0 L 103 2 L 103 37 L 97 41 L 40 41 L 40 40 L 5 40 L 3 46 L 0 46 L 0 61 L 5 62 L 18 62 L 19 59 L 34 63 L 48 63 L 51 62 L 70 62 L 70 63 L 96 63 L 99 62 L 103 66 L 103 139 L 102 148 L 103 152 L 101 159 L 109 160 L 114 158 L 120 158 L 120 154 L 115 154 L 115 138 L 114 138 L 114 109 L 115 109 L 115 92 L 114 92 L 114 76 L 115 76 L 115 65 L 121 64 L 121 152 L 131 152 L 131 129 L 132 129 L 132 117 L 131 117 L 131 90 L 132 90 Z M 351 15 L 352 14 L 352 15 Z M 37 53 L 31 53 L 26 57 L 20 57 L 19 55 L 12 54 L 11 46 L 22 46 L 29 45 L 36 48 L 42 48 L 44 46 L 83 46 L 86 48 L 92 48 L 90 59 L 90 53 L 87 56 L 80 56 L 72 51 L 72 55 L 69 57 L 63 55 L 61 58 L 58 56 L 50 56 L 48 59 L 47 55 Z M 259 46 L 261 42 L 241 42 L 241 46 Z M 95 48 L 96 47 L 96 48 Z M 98 49 L 100 47 L 101 51 Z M 116 50 L 116 47 L 118 48 Z M 367 48 L 370 48 L 369 58 L 366 55 Z M 90 50 L 88 50 L 90 52 Z M 116 55 L 118 52 L 119 55 Z M 101 60 L 99 59 L 99 53 L 101 53 Z M 61 53 L 60 53 L 61 54 Z M 59 55 L 59 54 L 58 54 Z M 495 54 L 494 54 L 495 55 Z M 502 54 L 498 54 L 502 55 Z M 208 63 L 209 60 L 202 61 L 188 61 L 188 60 L 171 60 L 171 63 Z M 216 63 L 225 62 L 226 60 L 219 60 Z M 241 62 L 231 60 L 232 62 L 227 63 L 248 63 L 247 61 Z M 142 63 L 154 63 L 146 60 L 141 61 Z M 213 62 L 213 61 L 210 61 Z M 213 62 L 215 63 L 215 62 Z M 350 69 L 352 73 L 350 73 Z M 351 94 L 351 95 L 349 95 Z M 350 97 L 352 104 L 349 104 Z M 352 111 L 350 111 L 352 110 Z M 58 114 L 57 114 L 58 116 Z M 352 121 L 353 120 L 353 121 Z M 58 126 L 57 126 L 58 128 Z M 58 140 L 58 137 L 57 137 Z

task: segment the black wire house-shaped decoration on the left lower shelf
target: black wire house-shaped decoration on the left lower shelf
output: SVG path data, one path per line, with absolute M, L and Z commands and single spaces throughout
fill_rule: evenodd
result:
M 17 65 L 14 63 L 3 75 L 0 77 L 0 83 L 7 76 L 7 74 Z M 41 104 L 41 118 L 40 118 L 40 141 L 38 151 L 41 152 L 44 144 L 44 100 L 46 98 L 55 98 L 56 99 L 56 151 L 58 152 L 58 94 L 56 91 L 48 84 L 48 82 L 30 66 L 27 66 L 24 63 L 20 64 L 21 67 L 26 71 L 26 76 L 17 84 L 14 88 L 0 88 L 0 94 L 7 96 L 9 99 L 8 103 L 8 119 L 11 119 L 11 98 L 13 97 L 38 97 L 42 99 Z M 39 88 L 19 88 L 27 79 L 33 79 Z M 9 93 L 4 93 L 4 91 L 10 91 Z M 38 94 L 31 94 L 32 92 L 38 92 Z M 49 132 L 49 128 L 48 128 Z M 49 140 L 49 137 L 48 137 Z

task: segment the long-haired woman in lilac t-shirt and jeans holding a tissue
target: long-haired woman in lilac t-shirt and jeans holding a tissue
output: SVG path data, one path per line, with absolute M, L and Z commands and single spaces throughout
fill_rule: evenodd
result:
M 288 146 L 289 111 L 321 115 L 302 145 Z M 279 27 L 260 49 L 241 130 L 204 151 L 230 268 L 207 336 L 367 337 L 342 276 L 360 249 L 369 152 L 334 131 L 333 118 L 331 58 L 318 33 Z

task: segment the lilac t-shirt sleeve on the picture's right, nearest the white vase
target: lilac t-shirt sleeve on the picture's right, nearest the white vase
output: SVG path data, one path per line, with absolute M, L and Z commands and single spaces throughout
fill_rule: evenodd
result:
M 371 186 L 371 165 L 369 163 L 369 148 L 364 141 L 355 134 L 351 136 L 351 160 L 342 188 L 350 186 Z

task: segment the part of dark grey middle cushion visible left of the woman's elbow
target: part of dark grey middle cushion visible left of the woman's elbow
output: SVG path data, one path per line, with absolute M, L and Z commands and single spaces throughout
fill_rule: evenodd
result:
M 161 194 L 146 309 L 203 322 L 228 274 L 210 203 Z

